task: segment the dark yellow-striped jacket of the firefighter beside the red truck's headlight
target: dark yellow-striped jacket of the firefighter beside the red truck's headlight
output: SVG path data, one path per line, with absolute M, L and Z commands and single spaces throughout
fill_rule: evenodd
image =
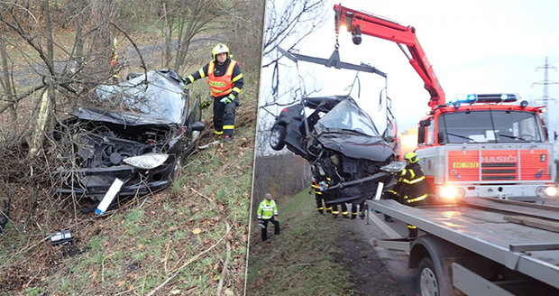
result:
M 427 198 L 427 184 L 419 163 L 410 163 L 400 172 L 399 196 L 410 204 Z

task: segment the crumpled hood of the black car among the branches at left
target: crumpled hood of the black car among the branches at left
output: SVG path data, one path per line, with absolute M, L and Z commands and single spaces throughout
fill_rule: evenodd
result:
M 156 118 L 147 115 L 107 111 L 103 108 L 81 107 L 71 113 L 80 120 L 101 121 L 116 125 L 170 125 L 173 124 L 169 120 Z

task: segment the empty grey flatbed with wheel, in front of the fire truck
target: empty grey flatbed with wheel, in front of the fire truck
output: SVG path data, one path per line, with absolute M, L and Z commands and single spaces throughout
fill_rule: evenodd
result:
M 415 239 L 376 244 L 408 252 L 421 295 L 559 295 L 558 207 L 487 198 L 422 208 L 367 204 L 420 229 Z

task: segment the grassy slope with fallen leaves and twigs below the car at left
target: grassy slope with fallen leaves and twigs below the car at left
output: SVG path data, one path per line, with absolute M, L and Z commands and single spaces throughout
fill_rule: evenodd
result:
M 192 155 L 171 189 L 105 217 L 91 214 L 79 223 L 70 217 L 79 254 L 65 256 L 64 249 L 41 242 L 51 229 L 24 234 L 8 224 L 0 238 L 0 282 L 11 286 L 0 291 L 145 295 L 176 273 L 155 295 L 214 295 L 220 279 L 222 294 L 242 294 L 259 83 L 245 75 L 250 82 L 237 109 L 234 142 Z M 204 117 L 211 125 L 209 110 Z M 200 144 L 215 140 L 211 131 L 207 126 Z

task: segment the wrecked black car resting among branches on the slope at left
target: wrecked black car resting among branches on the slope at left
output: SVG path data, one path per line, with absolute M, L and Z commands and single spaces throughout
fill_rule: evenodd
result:
M 102 107 L 80 107 L 58 126 L 55 139 L 73 163 L 59 169 L 61 193 L 101 200 L 116 180 L 118 196 L 162 190 L 196 148 L 205 126 L 179 75 L 164 69 L 132 77 L 97 87 Z

